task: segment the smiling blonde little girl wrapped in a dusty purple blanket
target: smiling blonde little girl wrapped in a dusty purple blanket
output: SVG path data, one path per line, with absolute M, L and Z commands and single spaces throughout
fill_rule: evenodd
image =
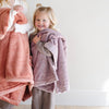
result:
M 32 109 L 55 109 L 53 93 L 69 88 L 65 40 L 55 25 L 52 9 L 38 4 L 34 14 L 35 32 L 29 36 L 35 83 Z

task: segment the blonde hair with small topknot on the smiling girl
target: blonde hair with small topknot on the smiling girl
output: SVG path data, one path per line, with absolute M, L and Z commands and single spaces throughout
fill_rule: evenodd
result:
M 37 7 L 37 9 L 35 10 L 34 17 L 33 17 L 34 27 L 35 27 L 36 15 L 39 12 L 46 12 L 48 14 L 49 20 L 50 20 L 49 28 L 53 28 L 56 25 L 56 22 L 57 22 L 53 10 L 50 7 L 43 7 L 40 3 L 38 3 L 36 7 Z M 37 32 L 37 28 L 36 28 L 36 32 Z

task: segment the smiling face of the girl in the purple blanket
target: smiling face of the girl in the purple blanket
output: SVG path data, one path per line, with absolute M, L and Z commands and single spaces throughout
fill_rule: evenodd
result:
M 37 13 L 36 19 L 35 19 L 35 27 L 38 31 L 43 31 L 45 28 L 49 28 L 49 26 L 50 26 L 50 20 L 47 13 L 46 12 Z

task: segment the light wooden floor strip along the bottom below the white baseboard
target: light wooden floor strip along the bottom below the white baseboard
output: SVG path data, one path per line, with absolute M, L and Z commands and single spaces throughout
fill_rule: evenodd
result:
M 31 109 L 31 106 L 17 106 L 13 109 Z M 109 107 L 78 107 L 78 106 L 56 106 L 56 109 L 109 109 Z

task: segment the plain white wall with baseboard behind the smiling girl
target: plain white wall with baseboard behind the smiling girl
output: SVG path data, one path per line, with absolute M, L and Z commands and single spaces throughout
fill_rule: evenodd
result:
M 31 16 L 37 2 L 52 7 L 68 39 L 71 90 L 58 95 L 56 104 L 109 106 L 109 0 L 27 2 Z

